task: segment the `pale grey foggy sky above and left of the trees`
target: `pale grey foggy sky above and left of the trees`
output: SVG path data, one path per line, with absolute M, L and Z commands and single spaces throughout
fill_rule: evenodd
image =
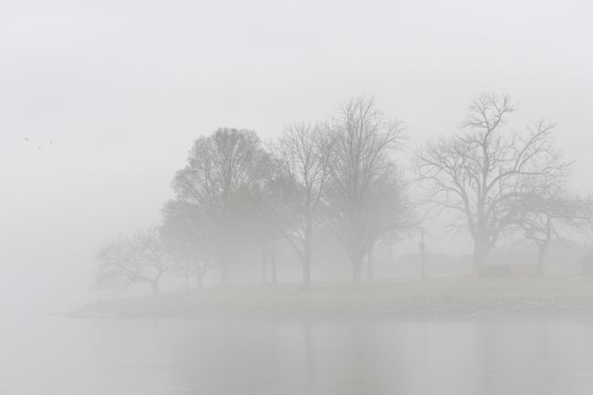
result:
M 413 147 L 481 91 L 509 93 L 512 125 L 557 121 L 591 189 L 591 16 L 588 1 L 4 0 L 2 299 L 85 291 L 104 238 L 158 220 L 195 138 L 271 138 L 354 95 Z

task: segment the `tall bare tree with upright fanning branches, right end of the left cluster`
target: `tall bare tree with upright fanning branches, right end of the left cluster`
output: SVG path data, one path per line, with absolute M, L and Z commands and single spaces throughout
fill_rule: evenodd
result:
M 347 100 L 332 120 L 328 213 L 355 285 L 373 246 L 406 225 L 406 188 L 390 158 L 402 138 L 401 122 L 387 118 L 372 99 Z

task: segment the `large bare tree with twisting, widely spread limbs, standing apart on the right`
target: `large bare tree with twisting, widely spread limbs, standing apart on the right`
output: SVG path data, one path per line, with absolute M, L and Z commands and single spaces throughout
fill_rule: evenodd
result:
M 417 155 L 430 201 L 458 213 L 455 227 L 472 235 L 476 270 L 500 235 L 513 230 L 525 201 L 570 167 L 555 148 L 554 124 L 542 120 L 525 132 L 506 132 L 506 117 L 514 111 L 508 96 L 482 94 L 469 106 L 460 132 L 429 142 Z

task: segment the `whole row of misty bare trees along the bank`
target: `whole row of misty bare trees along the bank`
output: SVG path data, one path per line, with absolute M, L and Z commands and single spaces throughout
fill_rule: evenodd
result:
M 430 226 L 433 208 L 455 213 L 451 224 L 471 234 L 476 271 L 500 237 L 521 233 L 539 246 L 543 272 L 555 237 L 588 230 L 591 204 L 568 191 L 572 162 L 554 143 L 554 125 L 508 131 L 514 111 L 507 96 L 473 99 L 462 128 L 427 142 L 412 166 L 402 165 L 401 121 L 372 99 L 349 99 L 328 120 L 293 124 L 267 143 L 252 130 L 216 130 L 194 141 L 161 223 L 99 248 L 98 284 L 145 282 L 156 294 L 163 273 L 188 284 L 195 276 L 202 287 L 216 269 L 224 285 L 254 247 L 276 277 L 275 244 L 284 240 L 308 288 L 314 238 L 331 230 L 359 285 L 373 248 Z

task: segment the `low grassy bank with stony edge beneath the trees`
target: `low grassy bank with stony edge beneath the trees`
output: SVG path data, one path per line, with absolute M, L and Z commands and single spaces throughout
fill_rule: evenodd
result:
M 210 315 L 391 317 L 475 317 L 525 314 L 591 314 L 593 277 L 440 278 L 348 283 L 319 283 L 311 290 L 297 284 L 229 286 L 189 294 L 103 300 L 73 317 L 201 317 Z

